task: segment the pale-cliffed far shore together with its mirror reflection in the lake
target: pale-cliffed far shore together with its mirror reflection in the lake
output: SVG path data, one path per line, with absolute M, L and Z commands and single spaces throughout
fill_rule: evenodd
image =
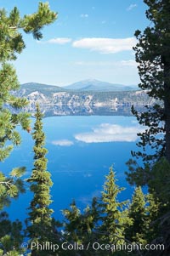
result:
M 98 82 L 99 83 L 99 82 Z M 110 85 L 111 87 L 111 85 Z M 100 87 L 101 88 L 101 87 Z M 127 89 L 129 89 L 127 87 Z M 131 115 L 131 106 L 141 109 L 153 99 L 141 90 L 103 91 L 68 90 L 38 83 L 26 83 L 17 92 L 30 101 L 27 111 L 34 112 L 38 102 L 45 116 L 68 115 Z

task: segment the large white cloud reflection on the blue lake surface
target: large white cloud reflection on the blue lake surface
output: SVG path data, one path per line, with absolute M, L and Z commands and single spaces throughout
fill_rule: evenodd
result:
M 114 141 L 135 141 L 137 133 L 144 131 L 139 126 L 123 127 L 117 124 L 102 123 L 92 132 L 76 134 L 75 139 L 85 143 L 102 143 Z

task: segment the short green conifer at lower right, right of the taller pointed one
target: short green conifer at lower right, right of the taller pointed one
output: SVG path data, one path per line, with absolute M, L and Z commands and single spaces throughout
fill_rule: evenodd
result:
M 161 236 L 159 225 L 160 205 L 152 194 L 144 195 L 141 187 L 136 187 L 132 202 L 128 208 L 131 225 L 127 225 L 125 233 L 128 242 L 134 244 L 156 244 L 156 238 Z M 145 254 L 144 254 L 145 255 Z M 146 253 L 146 255 L 148 255 Z M 152 255 L 149 253 L 149 255 Z M 155 255 L 155 254 L 153 254 Z

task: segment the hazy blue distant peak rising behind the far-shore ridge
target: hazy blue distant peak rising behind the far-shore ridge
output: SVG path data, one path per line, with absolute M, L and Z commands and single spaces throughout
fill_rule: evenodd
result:
M 77 90 L 77 91 L 96 91 L 96 92 L 118 92 L 118 91 L 132 91 L 138 90 L 139 88 L 135 85 L 126 86 L 111 82 L 102 82 L 95 79 L 84 80 L 80 82 L 72 83 L 71 85 L 65 86 L 65 89 Z

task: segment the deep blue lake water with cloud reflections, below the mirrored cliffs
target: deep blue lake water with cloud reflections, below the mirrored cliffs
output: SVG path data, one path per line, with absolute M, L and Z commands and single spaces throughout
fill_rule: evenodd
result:
M 71 116 L 43 119 L 48 171 L 54 182 L 51 189 L 54 202 L 51 207 L 57 219 L 62 218 L 61 209 L 68 208 L 72 199 L 83 209 L 94 196 L 99 196 L 112 164 L 117 184 L 127 188 L 119 195 L 120 200 L 130 198 L 133 188 L 126 182 L 125 162 L 130 157 L 130 151 L 136 148 L 136 134 L 140 129 L 134 117 Z M 26 166 L 26 179 L 31 174 L 33 141 L 31 134 L 24 131 L 21 134 L 22 145 L 14 149 L 0 168 L 8 172 L 11 168 Z M 30 200 L 31 193 L 27 189 L 26 194 L 8 208 L 10 218 L 26 219 Z

